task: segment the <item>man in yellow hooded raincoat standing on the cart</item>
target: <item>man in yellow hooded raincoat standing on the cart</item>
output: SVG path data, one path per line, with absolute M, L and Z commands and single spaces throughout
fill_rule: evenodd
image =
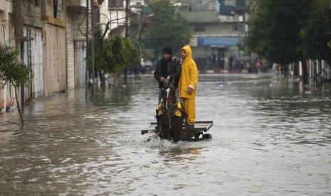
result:
M 179 97 L 184 102 L 187 111 L 187 122 L 193 128 L 195 123 L 195 95 L 196 84 L 198 83 L 198 67 L 192 58 L 192 51 L 189 45 L 185 45 L 181 51 L 182 72 L 179 78 Z

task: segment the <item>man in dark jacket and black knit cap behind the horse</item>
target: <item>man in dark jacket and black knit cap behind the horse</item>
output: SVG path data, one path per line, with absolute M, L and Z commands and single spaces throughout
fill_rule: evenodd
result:
M 154 77 L 159 82 L 159 100 L 162 98 L 163 83 L 174 80 L 174 88 L 177 89 L 180 77 L 179 60 L 172 60 L 172 48 L 163 49 L 163 58 L 157 62 Z

